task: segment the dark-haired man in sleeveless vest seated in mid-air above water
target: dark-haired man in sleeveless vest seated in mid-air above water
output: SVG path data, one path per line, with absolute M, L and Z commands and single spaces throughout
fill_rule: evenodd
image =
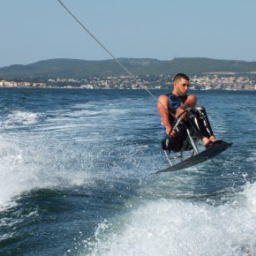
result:
M 162 125 L 165 130 L 165 139 L 162 141 L 162 148 L 178 152 L 184 146 L 184 139 L 187 138 L 185 126 L 193 128 L 197 136 L 203 141 L 205 147 L 210 147 L 219 140 L 209 124 L 206 110 L 197 107 L 197 97 L 187 95 L 189 78 L 184 73 L 178 73 L 173 79 L 173 91 L 171 94 L 161 95 L 158 98 L 157 109 L 162 118 Z M 191 108 L 189 113 L 184 109 Z M 182 122 L 175 124 L 176 117 L 181 117 Z M 166 145 L 168 139 L 168 145 Z M 214 142 L 215 141 L 215 142 Z

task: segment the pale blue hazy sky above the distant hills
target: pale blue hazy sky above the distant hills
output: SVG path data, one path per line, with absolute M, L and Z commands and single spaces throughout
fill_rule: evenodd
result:
M 256 0 L 62 0 L 116 57 L 256 61 Z M 111 58 L 56 0 L 0 0 L 0 67 Z

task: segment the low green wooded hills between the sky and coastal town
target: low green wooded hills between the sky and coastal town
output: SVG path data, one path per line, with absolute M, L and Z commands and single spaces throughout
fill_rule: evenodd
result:
M 173 75 L 177 72 L 256 72 L 256 62 L 180 57 L 169 61 L 150 58 L 118 58 L 134 75 Z M 56 79 L 120 76 L 127 73 L 113 59 L 87 61 L 57 58 L 34 64 L 13 64 L 0 68 L 0 79 Z

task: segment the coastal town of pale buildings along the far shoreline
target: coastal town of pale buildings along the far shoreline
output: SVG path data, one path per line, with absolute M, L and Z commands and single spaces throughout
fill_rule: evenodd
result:
M 236 73 L 206 73 L 191 75 L 191 89 L 196 90 L 256 90 L 255 76 Z M 172 77 L 164 75 L 109 76 L 90 79 L 48 79 L 43 82 L 0 80 L 0 87 L 40 87 L 40 88 L 87 88 L 87 89 L 164 89 L 171 87 Z

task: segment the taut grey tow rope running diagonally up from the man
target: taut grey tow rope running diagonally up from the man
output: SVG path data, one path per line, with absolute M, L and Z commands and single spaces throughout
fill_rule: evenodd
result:
M 77 18 L 72 14 L 72 12 L 63 4 L 63 2 L 62 2 L 61 0 L 56 0 L 56 1 L 64 7 L 64 9 L 72 16 L 72 18 L 75 19 L 75 20 L 79 23 L 80 26 L 82 26 L 82 28 L 87 32 L 87 34 L 89 34 L 89 35 L 94 39 L 94 41 L 96 41 L 96 42 L 102 47 L 102 49 L 104 49 L 104 50 L 109 54 L 109 56 L 111 56 L 111 57 L 117 62 L 117 64 L 119 64 L 119 65 L 124 69 L 124 71 L 127 72 L 127 73 L 132 77 L 132 79 L 135 79 L 135 81 L 136 81 L 138 84 L 141 84 L 141 83 L 139 82 L 139 80 L 135 78 L 135 76 L 132 74 L 132 72 L 128 71 L 128 70 L 124 67 L 124 65 L 121 64 L 115 56 L 113 56 L 113 54 L 101 43 L 101 41 L 99 41 L 99 40 L 94 36 L 94 34 L 92 34 L 92 33 L 87 29 L 87 27 L 84 26 L 84 25 L 79 21 L 79 19 L 77 19 Z M 151 96 L 154 97 L 155 100 L 157 100 L 157 98 L 154 96 L 154 94 L 152 94 L 146 87 L 143 87 L 143 89 L 145 89 L 148 94 L 150 94 Z M 158 100 L 157 100 L 157 101 L 158 101 Z M 159 102 L 159 101 L 158 101 L 158 102 Z M 162 102 L 160 102 L 160 103 L 162 104 Z M 163 106 L 165 109 L 167 109 L 167 107 L 164 106 L 163 104 L 162 104 L 162 106 Z

